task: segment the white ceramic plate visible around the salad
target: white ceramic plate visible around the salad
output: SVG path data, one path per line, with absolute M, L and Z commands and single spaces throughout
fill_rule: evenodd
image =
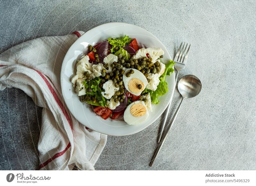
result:
M 150 112 L 149 117 L 140 125 L 128 125 L 122 120 L 103 120 L 97 116 L 90 107 L 79 101 L 74 88 L 71 85 L 72 74 L 76 73 L 76 59 L 80 58 L 83 54 L 87 54 L 88 44 L 95 45 L 101 41 L 107 40 L 109 37 L 121 37 L 128 35 L 130 38 L 136 38 L 138 44 L 145 47 L 161 47 L 164 50 L 163 61 L 167 62 L 171 59 L 170 54 L 153 34 L 147 30 L 127 24 L 127 23 L 107 23 L 98 27 L 92 28 L 69 48 L 61 67 L 61 91 L 69 111 L 74 117 L 83 125 L 92 130 L 98 131 L 103 134 L 111 136 L 125 136 L 137 133 L 153 123 L 166 109 L 169 101 L 172 99 L 174 92 L 174 73 L 166 81 L 168 83 L 169 92 L 160 97 L 160 103 L 157 105 L 152 104 L 153 112 Z

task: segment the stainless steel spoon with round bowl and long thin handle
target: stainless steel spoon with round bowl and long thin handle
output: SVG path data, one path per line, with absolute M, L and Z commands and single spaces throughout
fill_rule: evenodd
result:
M 180 107 L 183 104 L 183 101 L 186 98 L 191 98 L 191 97 L 197 96 L 200 93 L 201 89 L 202 89 L 201 81 L 194 75 L 185 75 L 184 77 L 182 77 L 180 79 L 179 84 L 178 84 L 178 90 L 182 96 L 182 100 L 181 100 L 180 105 L 177 108 L 175 114 L 173 115 L 168 128 L 166 129 L 166 131 L 164 133 L 163 140 L 161 140 L 161 142 L 156 150 L 156 153 L 154 154 L 154 157 L 152 158 L 152 160 L 149 164 L 150 167 L 154 163 L 159 151 L 161 150 L 161 148 L 164 144 L 164 141 L 167 138 L 167 136 L 172 128 L 172 124 L 174 123 L 174 121 L 178 115 L 178 112 L 180 111 Z

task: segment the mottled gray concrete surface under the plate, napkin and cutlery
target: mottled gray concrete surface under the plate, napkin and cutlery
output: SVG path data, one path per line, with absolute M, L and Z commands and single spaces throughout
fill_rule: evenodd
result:
M 161 116 L 145 130 L 108 136 L 98 170 L 256 169 L 254 1 L 0 1 L 0 51 L 29 39 L 127 22 L 156 35 L 173 55 L 191 43 L 185 74 L 203 89 L 185 101 L 163 150 L 148 167 Z M 175 91 L 170 118 L 180 102 Z M 38 169 L 41 108 L 22 91 L 0 92 L 0 168 Z

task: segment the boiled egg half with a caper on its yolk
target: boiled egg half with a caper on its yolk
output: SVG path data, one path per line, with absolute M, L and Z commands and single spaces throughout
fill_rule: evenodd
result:
M 133 70 L 133 74 L 130 73 L 131 70 Z M 130 74 L 130 77 L 126 76 L 127 73 Z M 134 68 L 128 68 L 124 71 L 123 81 L 125 89 L 135 96 L 139 96 L 148 84 L 145 75 Z

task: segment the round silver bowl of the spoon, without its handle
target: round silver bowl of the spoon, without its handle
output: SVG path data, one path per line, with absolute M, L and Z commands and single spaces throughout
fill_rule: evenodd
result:
M 183 98 L 195 97 L 201 89 L 201 81 L 194 75 L 185 75 L 178 84 L 178 90 Z

